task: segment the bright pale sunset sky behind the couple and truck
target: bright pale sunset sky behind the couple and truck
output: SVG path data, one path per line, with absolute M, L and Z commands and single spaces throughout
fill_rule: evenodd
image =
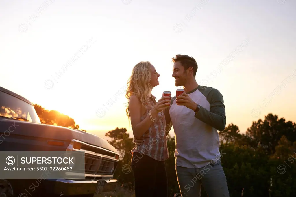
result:
M 226 126 L 245 133 L 268 113 L 296 122 L 295 11 L 292 0 L 2 0 L 0 86 L 90 133 L 119 127 L 133 137 L 133 66 L 155 66 L 158 100 L 176 95 L 171 58 L 186 54 L 197 83 L 223 95 Z

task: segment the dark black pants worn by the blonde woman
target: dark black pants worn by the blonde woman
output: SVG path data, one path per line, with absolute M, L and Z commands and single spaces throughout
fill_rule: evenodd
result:
M 134 152 L 131 168 L 135 180 L 136 197 L 167 197 L 168 178 L 165 162 Z

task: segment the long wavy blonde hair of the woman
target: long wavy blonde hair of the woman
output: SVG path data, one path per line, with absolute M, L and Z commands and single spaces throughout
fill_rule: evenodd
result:
M 132 95 L 136 95 L 145 108 L 149 106 L 149 97 L 151 97 L 152 91 L 152 86 L 149 83 L 151 80 L 150 65 L 149 61 L 141 61 L 133 67 L 126 89 L 126 98 L 128 99 L 128 103 L 130 97 Z M 126 115 L 130 121 L 128 105 L 126 108 Z

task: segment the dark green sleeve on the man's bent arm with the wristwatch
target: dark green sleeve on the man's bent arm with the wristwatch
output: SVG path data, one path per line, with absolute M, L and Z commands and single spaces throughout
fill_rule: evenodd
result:
M 217 89 L 210 87 L 201 89 L 200 92 L 202 92 L 210 103 L 210 111 L 201 106 L 194 117 L 218 131 L 223 131 L 226 126 L 226 113 L 222 94 Z

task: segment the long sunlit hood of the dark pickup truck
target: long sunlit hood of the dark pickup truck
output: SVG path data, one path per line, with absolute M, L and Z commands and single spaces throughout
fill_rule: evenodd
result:
M 72 139 L 76 139 L 117 153 L 115 147 L 106 140 L 78 129 L 0 118 L 0 135 L 5 131 L 6 135 L 9 131 L 9 135 L 34 138 L 38 141 L 59 140 L 70 143 Z

